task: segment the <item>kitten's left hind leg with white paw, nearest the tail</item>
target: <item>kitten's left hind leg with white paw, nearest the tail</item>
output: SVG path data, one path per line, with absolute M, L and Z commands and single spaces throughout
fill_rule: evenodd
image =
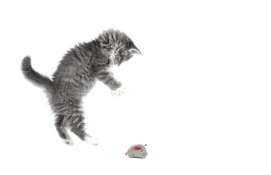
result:
M 67 129 L 65 127 L 65 123 L 63 122 L 64 116 L 63 115 L 57 115 L 55 118 L 55 127 L 56 131 L 59 135 L 59 137 L 68 145 L 73 145 L 73 141 L 70 137 L 70 135 L 67 132 Z

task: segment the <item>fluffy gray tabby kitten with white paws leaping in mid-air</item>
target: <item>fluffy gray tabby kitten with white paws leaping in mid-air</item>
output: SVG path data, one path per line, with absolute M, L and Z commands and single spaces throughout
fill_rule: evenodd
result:
M 67 132 L 70 128 L 81 140 L 95 145 L 98 140 L 85 131 L 82 98 L 97 80 L 107 85 L 112 94 L 124 94 L 125 88 L 109 69 L 113 65 L 120 66 L 134 54 L 141 53 L 133 41 L 126 34 L 110 29 L 98 38 L 70 49 L 60 61 L 52 80 L 32 68 L 30 56 L 23 58 L 21 70 L 26 79 L 45 89 L 59 136 L 72 145 Z

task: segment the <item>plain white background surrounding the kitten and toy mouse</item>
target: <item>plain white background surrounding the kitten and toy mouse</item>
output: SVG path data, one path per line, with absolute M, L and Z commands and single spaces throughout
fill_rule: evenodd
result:
M 1 1 L 1 175 L 270 175 L 271 5 L 262 0 Z M 43 91 L 20 62 L 49 77 L 74 44 L 108 28 L 142 55 L 113 68 L 84 99 L 87 131 L 65 145 Z M 148 157 L 128 158 L 133 144 Z

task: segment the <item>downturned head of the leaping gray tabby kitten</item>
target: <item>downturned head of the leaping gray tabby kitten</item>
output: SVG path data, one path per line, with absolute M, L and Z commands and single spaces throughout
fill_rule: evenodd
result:
M 133 41 L 119 30 L 109 29 L 99 35 L 101 47 L 108 50 L 114 65 L 120 66 L 135 54 L 141 54 Z

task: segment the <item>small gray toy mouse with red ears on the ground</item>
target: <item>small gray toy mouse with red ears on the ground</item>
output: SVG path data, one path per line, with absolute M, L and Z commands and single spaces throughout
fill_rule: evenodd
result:
M 146 144 L 136 144 L 131 146 L 128 151 L 126 152 L 126 155 L 130 158 L 145 158 L 148 156 L 148 152 L 146 150 Z M 125 155 L 125 156 L 126 156 Z

